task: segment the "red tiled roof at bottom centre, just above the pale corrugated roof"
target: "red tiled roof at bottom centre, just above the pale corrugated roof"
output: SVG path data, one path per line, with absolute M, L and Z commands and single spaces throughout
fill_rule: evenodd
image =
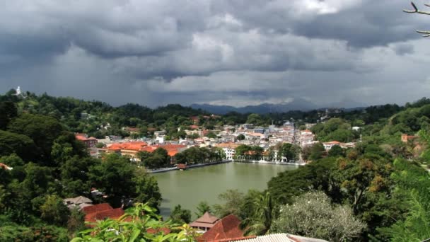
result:
M 225 239 L 233 241 L 235 238 L 243 238 L 243 231 L 240 229 L 240 220 L 238 217 L 230 214 L 217 221 L 211 229 L 197 238 L 197 241 L 207 242 L 221 241 Z

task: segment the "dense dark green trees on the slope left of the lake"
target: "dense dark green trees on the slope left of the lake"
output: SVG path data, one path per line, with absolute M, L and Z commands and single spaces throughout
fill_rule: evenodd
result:
M 83 229 L 83 216 L 70 211 L 66 197 L 104 196 L 95 203 L 157 208 L 155 178 L 115 154 L 94 159 L 66 126 L 52 116 L 24 113 L 13 102 L 0 103 L 0 241 L 67 241 Z

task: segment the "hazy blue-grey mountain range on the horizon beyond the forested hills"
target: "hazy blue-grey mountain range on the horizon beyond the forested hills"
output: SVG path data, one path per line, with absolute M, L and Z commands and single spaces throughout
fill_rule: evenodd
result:
M 350 108 L 345 108 L 346 106 Z M 228 105 L 211 105 L 211 104 L 192 104 L 191 108 L 194 109 L 202 109 L 209 113 L 214 113 L 218 115 L 225 115 L 229 112 L 237 112 L 237 113 L 286 113 L 292 110 L 301 110 L 301 111 L 309 111 L 315 109 L 325 109 L 328 107 L 318 106 L 315 103 L 312 103 L 303 98 L 294 98 L 290 103 L 262 103 L 260 105 L 248 105 L 245 107 L 236 108 Z M 357 108 L 354 108 L 357 107 Z M 366 107 L 363 103 L 356 103 L 352 100 L 342 100 L 339 103 L 333 103 L 330 105 L 330 108 L 344 108 L 344 110 L 361 110 L 364 109 L 362 107 Z

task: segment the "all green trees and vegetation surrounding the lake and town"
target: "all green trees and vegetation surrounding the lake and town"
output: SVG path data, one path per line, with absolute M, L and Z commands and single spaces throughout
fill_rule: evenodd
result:
M 305 149 L 279 144 L 268 151 L 260 146 L 239 146 L 236 156 L 260 159 L 274 156 L 276 150 L 277 158 L 291 161 L 301 154 L 313 162 L 279 173 L 269 181 L 266 191 L 228 190 L 220 195 L 221 204 L 211 207 L 201 202 L 197 215 L 208 211 L 219 217 L 236 214 L 247 234 L 289 230 L 334 241 L 430 238 L 430 175 L 425 169 L 430 163 L 429 99 L 405 107 L 383 105 L 350 112 L 230 113 L 212 117 L 180 105 L 155 110 L 134 104 L 113 108 L 97 101 L 33 93 L 26 96 L 18 98 L 11 92 L 0 96 L 0 162 L 13 168 L 0 169 L 0 241 L 68 241 L 74 236 L 75 241 L 194 239 L 190 228 L 180 226 L 192 216 L 180 205 L 173 209 L 171 221 L 160 221 L 156 215 L 161 202 L 158 185 L 139 163 L 115 154 L 94 159 L 73 132 L 95 137 L 141 137 L 165 129 L 168 137 L 178 139 L 184 135 L 181 130 L 193 125 L 194 120 L 204 128 L 216 129 L 224 124 L 267 125 L 272 120 L 279 123 L 290 118 L 300 126 L 322 116 L 325 122 L 312 127 L 318 140 L 358 142 L 361 137 L 361 142 L 354 149 L 333 146 L 330 151 L 325 151 L 321 143 Z M 192 120 L 192 116 L 197 119 Z M 355 126 L 360 129 L 352 130 Z M 131 134 L 122 127 L 138 127 L 139 132 Z M 402 142 L 402 133 L 419 137 Z M 222 156 L 220 149 L 197 147 L 174 157 L 164 149 L 139 154 L 141 165 L 148 168 L 170 166 L 172 159 L 197 163 Z M 83 214 L 69 210 L 63 199 L 91 197 L 91 188 L 103 194 L 92 197 L 95 203 L 131 209 L 120 220 L 100 221 L 93 229 L 85 230 Z M 136 203 L 139 205 L 134 207 Z M 314 226 L 303 222 L 310 218 L 318 218 Z M 161 233 L 161 227 L 169 228 L 171 233 Z M 148 229 L 155 232 L 149 233 Z

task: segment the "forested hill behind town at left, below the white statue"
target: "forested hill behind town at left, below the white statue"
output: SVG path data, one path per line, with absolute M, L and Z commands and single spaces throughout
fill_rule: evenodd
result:
M 72 132 L 83 132 L 90 136 L 103 138 L 106 135 L 126 136 L 122 127 L 139 127 L 142 134 L 148 129 L 171 128 L 170 134 L 175 137 L 174 129 L 180 125 L 192 125 L 192 116 L 209 115 L 202 110 L 170 104 L 156 109 L 147 108 L 138 104 L 126 104 L 112 107 L 108 103 L 92 100 L 78 100 L 76 98 L 63 98 L 40 96 L 34 93 L 25 93 L 25 98 L 14 95 L 11 90 L 0 96 L 0 101 L 16 103 L 18 113 L 31 113 L 47 115 L 61 121 Z

